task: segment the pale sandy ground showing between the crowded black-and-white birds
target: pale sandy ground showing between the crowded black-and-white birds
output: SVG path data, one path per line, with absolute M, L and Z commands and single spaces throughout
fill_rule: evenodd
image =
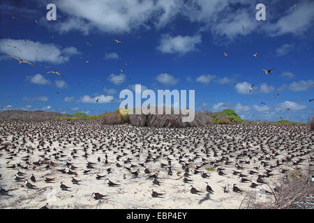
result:
M 103 127 L 103 128 L 111 128 L 111 127 Z M 39 130 L 40 131 L 40 130 Z M 72 133 L 75 130 L 71 130 Z M 104 132 L 104 131 L 102 131 Z M 175 131 L 174 131 L 175 132 Z M 19 132 L 15 132 L 18 134 Z M 141 132 L 138 132 L 140 135 Z M 176 134 L 176 133 L 174 133 Z M 208 133 L 211 134 L 210 132 Z M 177 133 L 178 137 L 184 139 L 187 136 L 183 134 Z M 231 137 L 230 135 L 225 134 L 227 137 Z M 311 134 L 309 135 L 311 137 Z M 10 142 L 12 141 L 13 134 L 9 134 L 8 136 L 0 136 L 3 141 Z M 172 162 L 172 171 L 173 175 L 167 175 L 167 171 L 164 168 L 160 168 L 160 163 L 167 164 L 166 157 L 160 157 L 158 162 L 149 162 L 147 163 L 147 167 L 154 174 L 155 171 L 159 171 L 158 180 L 160 181 L 160 186 L 153 185 L 151 180 L 147 180 L 147 174 L 144 174 L 144 168 L 137 166 L 133 168 L 136 170 L 137 168 L 140 169 L 140 174 L 138 178 L 134 178 L 130 172 L 123 168 L 123 167 L 116 167 L 114 162 L 116 162 L 116 155 L 114 153 L 117 151 L 117 147 L 110 144 L 107 145 L 106 150 L 112 148 L 112 150 L 107 150 L 106 153 L 108 155 L 108 164 L 104 163 L 105 155 L 103 151 L 92 151 L 92 148 L 97 148 L 100 143 L 100 139 L 105 143 L 106 141 L 113 140 L 112 136 L 106 136 L 105 132 L 102 136 L 98 135 L 97 137 L 88 139 L 87 141 L 82 141 L 79 144 L 73 145 L 72 143 L 68 143 L 67 140 L 74 141 L 74 136 L 71 134 L 63 135 L 60 138 L 64 139 L 61 142 L 61 146 L 59 141 L 54 141 L 50 148 L 57 148 L 58 151 L 62 150 L 66 157 L 61 157 L 59 160 L 52 161 L 56 163 L 56 167 L 52 167 L 50 169 L 45 169 L 46 164 L 41 165 L 40 167 L 36 167 L 36 169 L 8 169 L 6 168 L 10 164 L 15 164 L 21 162 L 24 166 L 24 161 L 22 161 L 22 157 L 28 155 L 26 151 L 20 151 L 13 160 L 7 160 L 7 157 L 10 157 L 6 153 L 6 151 L 1 151 L 0 157 L 0 173 L 2 174 L 2 178 L 0 180 L 0 186 L 5 188 L 6 190 L 10 189 L 12 191 L 9 192 L 11 194 L 10 197 L 8 196 L 0 196 L 0 208 L 40 208 L 45 205 L 45 203 L 49 203 L 49 208 L 239 208 L 241 201 L 243 201 L 246 193 L 238 194 L 236 192 L 232 192 L 232 185 L 235 183 L 239 188 L 245 191 L 257 191 L 257 189 L 253 189 L 249 187 L 250 183 L 241 183 L 239 181 L 239 176 L 234 176 L 232 174 L 233 170 L 237 170 L 234 168 L 234 163 L 230 165 L 223 165 L 225 170 L 223 171 L 226 175 L 219 176 L 216 170 L 214 171 L 207 171 L 205 168 L 210 167 L 208 164 L 206 167 L 201 167 L 200 171 L 205 171 L 207 174 L 210 175 L 208 179 L 202 178 L 200 174 L 192 174 L 189 178 L 193 180 L 192 183 L 184 183 L 182 180 L 184 170 L 181 169 L 181 165 L 176 161 L 176 157 L 173 155 L 169 155 L 169 157 L 174 160 Z M 132 136 L 131 136 L 132 137 Z M 236 136 L 238 138 L 244 137 L 241 135 Z M 163 141 L 163 136 L 159 139 Z M 202 140 L 202 137 L 201 139 Z M 313 139 L 312 139 L 313 140 Z M 48 141 L 48 139 L 47 139 Z M 265 139 L 266 141 L 266 139 Z M 22 139 L 19 139 L 19 143 L 22 142 Z M 34 140 L 33 143 L 27 141 L 23 148 L 27 148 L 27 146 L 32 146 L 36 148 L 38 146 L 38 140 Z M 191 141 L 191 144 L 193 142 Z M 297 142 L 296 142 L 297 144 Z M 82 151 L 84 147 L 89 148 L 87 152 L 90 154 L 87 159 L 82 157 L 84 152 Z M 150 144 L 151 146 L 160 146 L 160 144 Z M 165 145 L 165 144 L 163 144 Z M 63 148 L 66 146 L 66 148 Z M 124 152 L 128 153 L 127 157 L 132 157 L 132 153 L 130 153 L 130 148 L 134 146 L 141 147 L 142 142 L 139 140 L 133 141 L 132 144 L 126 142 L 124 146 Z M 247 144 L 242 144 L 242 146 L 251 146 L 251 148 L 256 148 L 253 143 L 248 142 Z M 310 145 L 313 149 L 313 145 Z M 10 148 L 10 146 L 8 147 Z M 47 148 L 47 145 L 45 146 Z M 73 151 L 73 148 L 77 149 L 77 158 L 72 159 L 70 153 Z M 194 151 L 200 151 L 203 148 L 202 144 L 197 145 Z M 11 151 L 16 151 L 16 149 L 10 149 Z M 55 152 L 51 150 L 51 153 Z M 33 150 L 33 155 L 31 155 L 31 162 L 38 161 L 39 159 L 43 160 L 43 157 L 39 155 L 43 155 L 45 151 L 40 150 L 38 148 Z M 187 155 L 193 155 L 193 153 L 187 152 Z M 142 149 L 140 153 L 140 157 L 134 157 L 132 163 L 142 163 L 145 160 L 147 155 L 147 151 Z M 283 155 L 283 154 L 281 154 Z M 48 155 L 45 155 L 48 157 Z M 73 170 L 78 175 L 74 176 L 78 180 L 82 180 L 81 185 L 74 185 L 71 182 L 71 175 L 68 174 L 61 174 L 57 169 L 63 169 L 66 167 L 66 160 L 68 157 L 71 157 L 69 162 L 77 167 L 77 169 Z M 101 157 L 101 162 L 97 161 L 97 158 Z M 206 158 L 206 157 L 205 157 Z M 218 159 L 216 157 L 215 159 Z M 87 160 L 89 162 L 95 162 L 94 164 L 95 169 L 92 169 L 90 174 L 84 175 L 81 169 L 87 169 L 85 167 Z M 122 162 L 124 158 L 121 158 L 119 163 L 122 166 L 127 166 L 128 164 L 124 164 Z M 209 158 L 209 160 L 214 160 L 213 158 Z M 246 160 L 246 159 L 243 159 Z M 7 162 L 10 161 L 8 164 Z M 232 161 L 232 160 L 231 160 Z M 200 162 L 196 162 L 200 163 Z M 305 168 L 306 163 L 300 165 L 299 167 Z M 242 171 L 244 174 L 247 174 L 248 169 L 253 169 L 256 164 L 253 162 L 251 164 L 246 164 L 246 169 Z M 33 167 L 33 165 L 31 165 Z M 291 169 L 290 167 L 286 166 L 285 164 L 282 166 L 285 169 Z M 107 169 L 112 168 L 112 173 L 107 174 Z M 29 176 L 33 174 L 36 177 L 36 183 L 31 182 L 33 185 L 38 187 L 38 190 L 32 190 L 24 187 L 24 182 L 16 182 L 13 178 L 16 174 L 16 171 L 20 170 L 26 174 L 25 178 L 29 180 Z M 260 171 L 262 173 L 262 170 Z M 109 187 L 105 181 L 105 178 L 96 180 L 94 173 L 105 175 L 110 178 L 114 183 L 118 183 L 119 187 Z M 282 176 L 279 173 L 278 169 L 273 171 L 275 174 L 271 178 L 267 178 L 267 182 L 274 182 L 276 178 Z M 123 178 L 123 175 L 126 174 L 126 179 Z M 48 178 L 56 178 L 54 183 L 45 183 L 43 177 L 46 176 Z M 248 178 L 253 179 L 256 183 L 255 176 L 248 175 Z M 59 187 L 59 183 L 63 182 L 63 184 L 70 187 L 70 191 L 63 191 Z M 211 185 L 211 188 L 214 190 L 214 194 L 209 194 L 205 192 L 206 190 L 206 183 Z M 191 194 L 190 193 L 190 185 L 193 185 L 197 190 L 202 191 L 200 195 L 198 194 Z M 230 192 L 224 193 L 223 187 L 225 185 L 230 185 Z M 270 190 L 267 185 L 262 185 L 264 189 Z M 163 192 L 165 196 L 163 198 L 154 198 L 151 197 L 151 189 L 154 189 L 156 192 Z M 101 201 L 95 200 L 91 194 L 93 192 L 99 192 L 100 194 L 107 194 L 106 199 Z M 257 193 L 258 194 L 258 193 Z M 261 202 L 272 200 L 272 196 L 269 195 L 258 195 Z

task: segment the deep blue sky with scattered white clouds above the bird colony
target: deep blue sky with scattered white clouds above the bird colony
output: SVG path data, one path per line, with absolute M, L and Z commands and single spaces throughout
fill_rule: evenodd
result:
M 296 2 L 1 1 L 0 110 L 102 114 L 119 107 L 121 90 L 142 84 L 195 90 L 198 111 L 305 122 L 314 103 L 314 1 L 293 9 Z M 47 3 L 57 21 L 46 19 Z M 265 21 L 255 18 L 257 3 Z M 44 74 L 52 70 L 65 77 Z

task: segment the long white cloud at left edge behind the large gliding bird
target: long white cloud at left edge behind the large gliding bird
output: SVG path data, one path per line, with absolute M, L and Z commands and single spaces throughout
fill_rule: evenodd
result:
M 12 45 L 17 47 L 8 47 Z M 61 49 L 61 47 L 54 44 L 46 44 L 40 42 L 33 42 L 32 40 L 13 40 L 13 39 L 1 39 L 0 40 L 0 52 L 7 53 L 13 56 L 17 56 L 20 59 L 24 59 L 29 62 L 49 62 L 49 63 L 64 63 L 70 59 L 70 56 L 79 54 L 75 47 L 67 47 Z M 3 56 L 0 59 L 11 59 L 9 56 Z

